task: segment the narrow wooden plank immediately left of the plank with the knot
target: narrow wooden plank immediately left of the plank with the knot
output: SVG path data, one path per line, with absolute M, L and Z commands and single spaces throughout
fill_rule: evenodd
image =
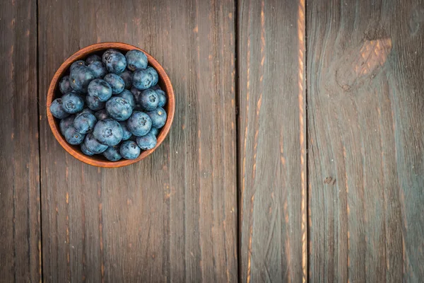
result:
M 239 1 L 240 277 L 307 280 L 305 1 Z

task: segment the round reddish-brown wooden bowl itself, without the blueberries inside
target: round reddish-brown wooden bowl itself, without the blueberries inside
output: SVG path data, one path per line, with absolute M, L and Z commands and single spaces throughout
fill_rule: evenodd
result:
M 50 112 L 50 104 L 52 104 L 53 100 L 60 97 L 61 93 L 59 91 L 59 81 L 63 76 L 66 76 L 69 74 L 69 67 L 73 62 L 79 59 L 86 59 L 88 55 L 90 54 L 98 54 L 101 57 L 102 52 L 105 50 L 108 50 L 110 48 L 114 48 L 116 50 L 121 50 L 122 52 L 126 52 L 128 50 L 141 50 L 139 47 L 135 47 L 133 45 L 128 45 L 125 43 L 120 42 L 102 42 L 102 43 L 96 43 L 94 45 L 90 45 L 88 47 L 84 47 L 83 49 L 79 50 L 75 54 L 73 54 L 71 57 L 66 59 L 66 61 L 61 64 L 59 69 L 56 71 L 56 74 L 54 74 L 54 77 L 52 79 L 52 82 L 49 86 L 49 91 L 47 93 L 47 120 L 49 121 L 50 128 L 52 129 L 52 132 L 54 134 L 54 137 L 56 137 L 57 141 L 59 141 L 59 144 L 71 154 L 71 156 L 77 158 L 80 161 L 83 161 L 87 164 L 98 166 L 98 167 L 107 167 L 107 168 L 115 168 L 115 167 L 122 167 L 126 166 L 132 163 L 136 163 L 138 161 L 141 161 L 141 159 L 146 158 L 149 154 L 151 154 L 155 149 L 162 144 L 162 141 L 167 136 L 168 132 L 170 131 L 170 127 L 172 125 L 172 120 L 174 119 L 174 112 L 175 112 L 175 97 L 174 97 L 174 91 L 172 91 L 172 85 L 170 82 L 170 79 L 168 78 L 167 74 L 165 73 L 165 70 L 162 66 L 158 63 L 158 61 L 155 60 L 150 54 L 148 54 L 146 51 L 143 51 L 148 58 L 148 64 L 155 68 L 156 71 L 158 71 L 159 75 L 159 86 L 160 88 L 167 93 L 167 104 L 165 105 L 165 110 L 167 112 L 167 120 L 165 123 L 165 126 L 163 126 L 162 129 L 160 129 L 160 132 L 158 134 L 158 144 L 156 144 L 154 149 L 148 150 L 148 151 L 141 151 L 141 154 L 138 158 L 133 160 L 126 160 L 121 159 L 120 161 L 112 162 L 108 161 L 104 156 L 101 154 L 96 154 L 94 156 L 86 156 L 81 152 L 80 146 L 73 146 L 71 144 L 68 144 L 65 140 L 65 138 L 62 136 L 60 129 L 59 129 L 59 119 L 53 117 L 52 113 Z

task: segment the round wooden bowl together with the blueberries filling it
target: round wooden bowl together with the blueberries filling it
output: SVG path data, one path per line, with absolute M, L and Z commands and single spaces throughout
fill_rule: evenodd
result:
M 61 64 L 47 93 L 47 120 L 73 157 L 121 167 L 151 154 L 175 112 L 170 79 L 150 54 L 120 42 L 85 47 Z

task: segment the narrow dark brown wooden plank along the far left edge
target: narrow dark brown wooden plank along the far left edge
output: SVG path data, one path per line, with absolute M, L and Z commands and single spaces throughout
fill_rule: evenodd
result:
M 1 282 L 38 282 L 40 162 L 35 1 L 0 8 Z

